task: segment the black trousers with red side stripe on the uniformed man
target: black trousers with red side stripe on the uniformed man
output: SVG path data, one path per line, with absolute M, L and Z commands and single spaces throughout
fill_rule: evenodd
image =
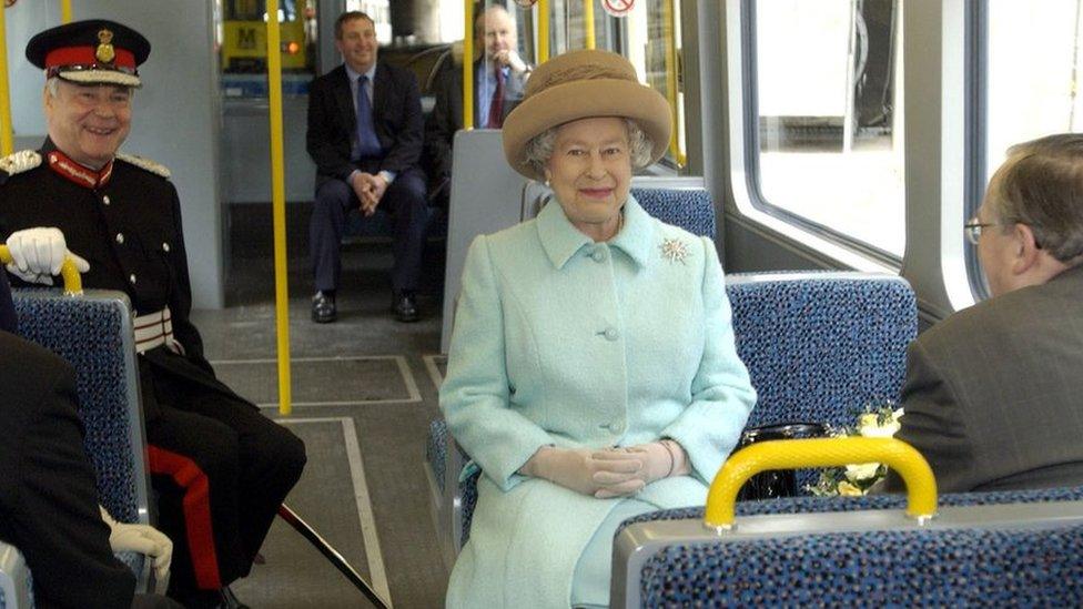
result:
M 249 575 L 301 478 L 304 443 L 247 402 L 141 364 L 159 527 L 173 540 L 170 593 L 227 586 Z

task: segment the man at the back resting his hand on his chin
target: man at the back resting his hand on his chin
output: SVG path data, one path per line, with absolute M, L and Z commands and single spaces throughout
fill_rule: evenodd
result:
M 474 61 L 474 126 L 500 129 L 504 119 L 523 99 L 530 67 L 518 51 L 515 20 L 494 4 L 474 22 L 475 48 L 484 54 Z M 462 53 L 458 53 L 462 55 Z M 451 54 L 455 58 L 454 51 Z M 425 158 L 432 199 L 446 206 L 451 194 L 452 142 L 463 129 L 463 62 L 444 60 L 434 85 L 436 105 L 425 123 Z

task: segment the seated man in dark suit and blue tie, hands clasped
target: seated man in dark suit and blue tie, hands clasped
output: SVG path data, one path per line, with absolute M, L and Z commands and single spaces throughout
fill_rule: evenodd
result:
M 340 244 L 346 212 L 376 209 L 394 217 L 392 311 L 399 322 L 418 319 L 416 290 L 428 219 L 422 153 L 421 93 L 407 70 L 376 61 L 376 30 L 358 11 L 335 21 L 335 47 L 344 63 L 308 89 L 308 154 L 316 163 L 316 203 L 308 224 L 316 294 L 312 318 L 336 318 L 342 273 Z

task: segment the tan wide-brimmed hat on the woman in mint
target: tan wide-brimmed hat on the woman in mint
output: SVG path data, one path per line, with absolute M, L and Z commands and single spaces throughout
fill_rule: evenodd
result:
M 523 175 L 543 180 L 526 162 L 526 144 L 553 126 L 594 116 L 635 120 L 652 144 L 650 162 L 669 145 L 670 109 L 661 93 L 639 83 L 627 59 L 608 51 L 571 51 L 530 74 L 523 101 L 504 120 L 504 155 Z

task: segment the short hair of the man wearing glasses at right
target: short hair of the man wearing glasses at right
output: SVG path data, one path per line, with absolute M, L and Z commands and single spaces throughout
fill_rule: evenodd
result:
M 989 184 L 996 223 L 1030 226 L 1056 260 L 1083 256 L 1083 134 L 1060 133 L 1009 149 Z

